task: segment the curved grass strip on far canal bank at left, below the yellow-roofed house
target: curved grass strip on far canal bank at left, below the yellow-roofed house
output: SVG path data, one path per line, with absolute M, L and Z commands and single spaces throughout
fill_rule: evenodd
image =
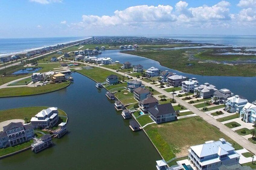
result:
M 43 94 L 52 91 L 65 88 L 69 85 L 69 81 L 56 84 L 46 84 L 39 87 L 14 87 L 14 88 L 1 88 L 0 97 L 10 97 L 10 96 L 26 96 L 34 94 Z

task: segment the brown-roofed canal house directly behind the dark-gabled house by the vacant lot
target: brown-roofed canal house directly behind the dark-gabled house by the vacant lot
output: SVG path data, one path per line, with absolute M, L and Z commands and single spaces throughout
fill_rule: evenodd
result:
M 139 109 L 142 113 L 147 114 L 148 109 L 154 107 L 157 104 L 158 100 L 152 95 L 149 95 L 146 99 L 139 101 Z

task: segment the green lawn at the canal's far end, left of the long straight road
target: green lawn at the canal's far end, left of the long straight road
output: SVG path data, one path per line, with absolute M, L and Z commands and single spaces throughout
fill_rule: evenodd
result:
M 82 70 L 75 70 L 78 73 L 81 73 L 85 76 L 90 77 L 91 79 L 95 80 L 96 82 L 105 82 L 107 76 L 114 74 L 118 77 L 122 77 L 122 75 L 118 73 L 114 73 L 112 71 L 108 71 L 102 68 L 98 67 L 91 67 L 92 69 L 82 69 Z M 127 80 L 127 77 L 125 77 L 125 80 Z

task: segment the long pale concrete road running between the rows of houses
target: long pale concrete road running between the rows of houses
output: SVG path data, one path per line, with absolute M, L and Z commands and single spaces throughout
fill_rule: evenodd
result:
M 94 66 L 94 67 L 99 67 L 93 64 L 88 64 L 90 66 Z M 115 70 L 109 69 L 109 68 L 105 68 L 105 67 L 100 67 L 102 69 L 105 70 L 109 70 L 112 71 L 114 73 L 120 74 L 120 75 L 124 75 L 124 76 L 129 76 L 128 74 L 123 74 L 120 72 L 116 72 Z M 132 77 L 132 76 L 129 76 Z M 133 77 L 133 79 L 136 79 L 135 77 Z M 164 91 L 163 89 L 157 87 L 157 86 L 152 86 L 151 84 L 149 84 L 148 82 L 144 82 L 143 79 L 140 79 L 140 81 L 145 85 L 145 86 L 151 86 L 154 90 L 162 93 L 163 95 L 165 95 L 166 97 L 172 98 L 172 94 L 168 93 L 166 91 Z M 240 136 L 239 134 L 237 134 L 236 132 L 232 131 L 230 128 L 226 127 L 225 125 L 223 125 L 221 122 L 216 121 L 215 119 L 213 119 L 211 116 L 205 114 L 204 112 L 202 112 L 201 110 L 198 110 L 196 107 L 190 105 L 189 103 L 187 103 L 187 101 L 181 100 L 179 97 L 174 96 L 174 99 L 181 105 L 183 105 L 184 107 L 186 107 L 188 110 L 192 111 L 193 113 L 195 113 L 197 116 L 200 116 L 201 118 L 203 118 L 206 122 L 210 123 L 211 125 L 214 125 L 215 127 L 219 128 L 220 131 L 224 134 L 226 134 L 229 138 L 231 138 L 232 140 L 236 141 L 239 145 L 241 145 L 242 147 L 250 150 L 254 155 L 256 155 L 256 145 L 252 144 L 250 141 L 246 140 L 245 138 L 243 138 L 242 136 Z

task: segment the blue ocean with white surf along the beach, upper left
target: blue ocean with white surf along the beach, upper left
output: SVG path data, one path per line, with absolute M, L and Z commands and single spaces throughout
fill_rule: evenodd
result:
M 0 39 L 0 57 L 18 52 L 40 49 L 46 46 L 65 44 L 89 37 L 54 37 L 54 38 L 14 38 Z

